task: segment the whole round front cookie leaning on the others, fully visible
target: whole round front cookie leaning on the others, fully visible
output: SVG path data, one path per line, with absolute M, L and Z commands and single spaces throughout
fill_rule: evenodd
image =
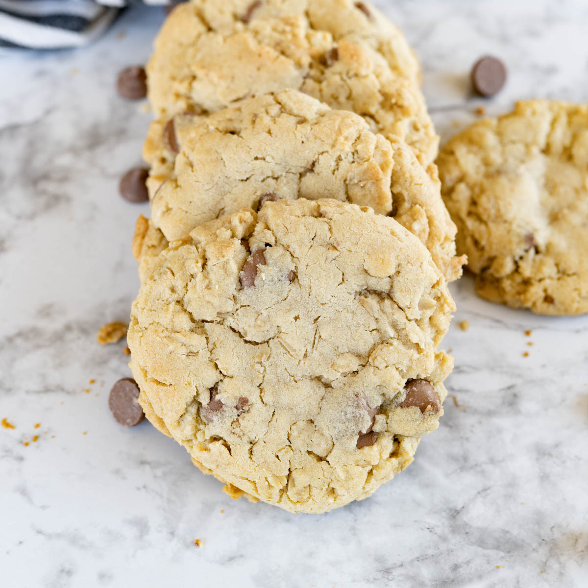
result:
M 436 429 L 453 309 L 392 218 L 332 199 L 242 209 L 149 266 L 128 333 L 139 403 L 232 495 L 325 512 Z

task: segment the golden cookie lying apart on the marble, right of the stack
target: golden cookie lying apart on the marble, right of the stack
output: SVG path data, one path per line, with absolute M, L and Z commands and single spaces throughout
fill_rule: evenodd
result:
M 451 139 L 437 163 L 480 296 L 588 312 L 588 106 L 519 102 Z

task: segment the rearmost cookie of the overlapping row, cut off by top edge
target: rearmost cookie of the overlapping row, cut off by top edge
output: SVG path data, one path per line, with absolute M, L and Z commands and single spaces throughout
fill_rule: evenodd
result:
M 373 131 L 405 139 L 425 165 L 437 153 L 415 55 L 367 3 L 186 2 L 163 24 L 146 69 L 161 126 L 174 115 L 209 114 L 294 88 L 359 113 Z M 149 161 L 166 156 L 159 141 L 145 151 Z

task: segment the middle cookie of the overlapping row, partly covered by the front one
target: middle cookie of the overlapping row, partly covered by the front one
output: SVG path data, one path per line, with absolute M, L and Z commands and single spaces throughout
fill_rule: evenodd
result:
M 288 90 L 207 117 L 177 119 L 175 168 L 153 171 L 152 219 L 168 240 L 263 198 L 335 198 L 393 216 L 459 277 L 455 225 L 431 178 L 400 139 L 375 135 L 358 115 Z

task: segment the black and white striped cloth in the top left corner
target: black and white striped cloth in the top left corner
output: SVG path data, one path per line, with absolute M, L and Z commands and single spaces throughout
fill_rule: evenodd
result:
M 57 49 L 85 45 L 101 35 L 130 1 L 0 0 L 0 46 Z M 167 4 L 168 0 L 145 2 Z

